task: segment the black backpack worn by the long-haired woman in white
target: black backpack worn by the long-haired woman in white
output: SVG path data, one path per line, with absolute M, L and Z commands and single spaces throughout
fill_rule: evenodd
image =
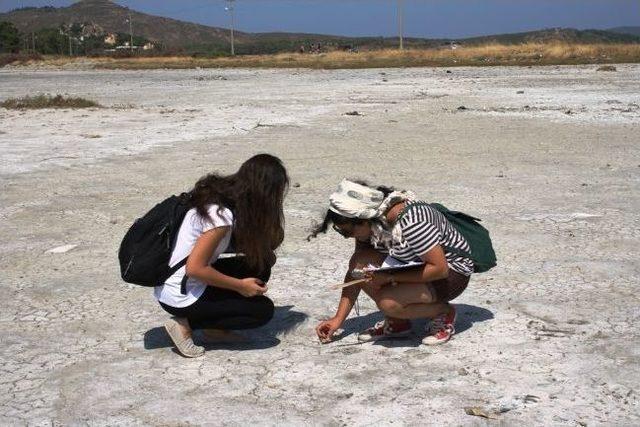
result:
M 120 243 L 120 275 L 127 283 L 157 286 L 187 263 L 169 267 L 171 252 L 185 215 L 191 209 L 189 194 L 171 196 L 138 218 Z

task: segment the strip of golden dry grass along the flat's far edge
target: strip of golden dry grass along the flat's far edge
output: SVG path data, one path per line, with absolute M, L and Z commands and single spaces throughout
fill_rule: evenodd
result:
M 319 55 L 286 53 L 225 58 L 96 58 L 98 68 L 385 68 L 477 65 L 563 65 L 640 62 L 640 44 L 530 43 L 450 49 L 378 50 Z

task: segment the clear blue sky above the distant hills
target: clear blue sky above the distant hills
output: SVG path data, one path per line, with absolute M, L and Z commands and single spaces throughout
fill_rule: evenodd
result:
M 229 27 L 224 0 L 116 0 L 140 12 Z M 0 12 L 68 6 L 68 0 L 0 0 Z M 640 0 L 402 0 L 405 37 L 463 38 L 570 27 L 640 26 Z M 345 36 L 396 36 L 398 0 L 235 0 L 235 28 Z

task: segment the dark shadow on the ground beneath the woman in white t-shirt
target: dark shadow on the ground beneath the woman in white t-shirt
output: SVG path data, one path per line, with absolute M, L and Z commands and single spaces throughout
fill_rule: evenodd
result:
M 260 350 L 275 347 L 280 344 L 278 336 L 287 335 L 303 323 L 308 315 L 292 310 L 292 305 L 276 307 L 273 319 L 261 328 L 241 331 L 240 334 L 247 338 L 246 342 L 221 342 L 215 344 L 204 343 L 206 350 Z M 194 334 L 194 341 L 198 343 L 199 334 Z M 157 348 L 173 347 L 173 342 L 164 327 L 158 326 L 144 333 L 144 348 L 153 350 Z

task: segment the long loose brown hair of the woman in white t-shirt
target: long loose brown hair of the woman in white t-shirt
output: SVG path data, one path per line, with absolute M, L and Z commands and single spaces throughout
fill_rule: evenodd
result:
M 232 175 L 211 173 L 200 178 L 190 192 L 191 204 L 209 220 L 209 205 L 230 209 L 236 250 L 247 256 L 249 266 L 263 269 L 273 264 L 273 251 L 284 240 L 283 203 L 288 188 L 282 161 L 258 154 Z

